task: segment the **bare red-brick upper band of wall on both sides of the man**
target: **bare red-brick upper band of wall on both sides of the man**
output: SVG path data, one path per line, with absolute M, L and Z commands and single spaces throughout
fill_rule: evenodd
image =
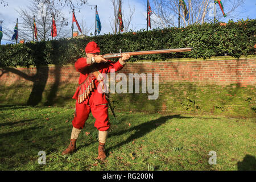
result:
M 256 85 L 256 59 L 163 61 L 127 63 L 120 73 L 159 73 L 159 83 L 199 82 L 200 84 L 240 86 Z M 77 83 L 79 73 L 74 65 L 64 67 L 0 68 L 0 85 Z

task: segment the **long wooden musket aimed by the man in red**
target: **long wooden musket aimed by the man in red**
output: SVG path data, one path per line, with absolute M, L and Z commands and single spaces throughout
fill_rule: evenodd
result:
M 105 59 L 119 58 L 122 57 L 122 53 L 129 53 L 130 56 L 138 56 L 138 55 L 152 55 L 156 53 L 171 53 L 171 52 L 189 52 L 192 51 L 192 47 L 189 48 L 177 48 L 177 49 L 160 49 L 154 51 L 135 51 L 135 52 L 121 52 L 119 53 L 107 53 L 103 55 Z

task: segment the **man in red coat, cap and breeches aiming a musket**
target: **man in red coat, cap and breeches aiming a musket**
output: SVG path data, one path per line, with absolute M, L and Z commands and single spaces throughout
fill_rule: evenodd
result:
M 122 53 L 122 57 L 113 62 L 106 60 L 100 54 L 100 47 L 95 42 L 89 42 L 85 47 L 86 57 L 81 57 L 75 63 L 75 68 L 80 72 L 79 84 L 82 84 L 88 77 L 89 73 L 92 73 L 92 67 L 96 68 L 100 73 L 109 73 L 110 71 L 119 71 L 123 68 L 125 61 L 130 58 L 128 53 Z M 72 121 L 73 129 L 71 132 L 71 140 L 68 148 L 62 152 L 62 155 L 71 154 L 76 151 L 76 140 L 84 127 L 85 121 L 88 119 L 89 114 L 92 113 L 96 119 L 94 126 L 98 129 L 98 158 L 104 160 L 105 143 L 110 128 L 109 115 L 108 115 L 108 101 L 106 100 L 104 93 L 98 92 L 98 80 L 93 79 L 94 89 L 90 92 L 83 102 L 79 102 L 79 88 L 73 98 L 76 99 L 76 111 L 75 117 Z

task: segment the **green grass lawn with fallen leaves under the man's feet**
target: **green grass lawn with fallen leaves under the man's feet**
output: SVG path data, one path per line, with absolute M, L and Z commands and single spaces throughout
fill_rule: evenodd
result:
M 107 158 L 97 158 L 90 115 L 77 152 L 62 156 L 74 108 L 0 106 L 0 170 L 256 170 L 255 118 L 109 112 Z M 46 164 L 38 164 L 39 151 Z M 215 151 L 217 164 L 208 163 Z

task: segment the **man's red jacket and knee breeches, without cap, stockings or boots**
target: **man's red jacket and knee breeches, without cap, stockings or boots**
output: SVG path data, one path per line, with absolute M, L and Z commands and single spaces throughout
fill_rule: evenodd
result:
M 108 60 L 106 63 L 94 63 L 100 73 L 110 73 L 110 71 L 119 71 L 123 68 L 123 65 L 117 61 Z M 86 63 L 86 58 L 82 57 L 75 63 L 75 68 L 80 72 L 79 84 L 84 82 L 88 74 L 90 73 L 89 66 L 92 64 Z M 94 78 L 95 89 L 91 92 L 90 96 L 86 98 L 84 102 L 79 104 L 77 101 L 79 95 L 79 88 L 72 98 L 76 99 L 76 114 L 72 121 L 73 127 L 82 129 L 85 121 L 88 119 L 90 112 L 96 119 L 94 126 L 100 131 L 107 131 L 110 127 L 109 115 L 108 115 L 108 101 L 103 93 L 97 91 L 99 82 Z

